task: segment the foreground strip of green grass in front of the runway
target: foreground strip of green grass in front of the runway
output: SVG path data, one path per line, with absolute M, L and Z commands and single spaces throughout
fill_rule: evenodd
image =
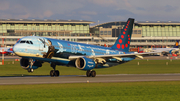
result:
M 179 101 L 180 82 L 0 85 L 1 101 Z

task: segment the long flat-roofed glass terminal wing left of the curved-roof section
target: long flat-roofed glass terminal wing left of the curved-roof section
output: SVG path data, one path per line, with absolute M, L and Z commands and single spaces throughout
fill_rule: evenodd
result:
M 27 20 L 0 19 L 0 44 L 12 46 L 23 36 L 46 36 L 69 41 L 78 41 L 74 37 L 90 36 L 89 24 L 85 20 Z

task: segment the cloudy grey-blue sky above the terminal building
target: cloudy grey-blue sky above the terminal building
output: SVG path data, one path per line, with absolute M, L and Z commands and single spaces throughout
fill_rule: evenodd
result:
M 0 0 L 0 19 L 180 21 L 180 0 Z

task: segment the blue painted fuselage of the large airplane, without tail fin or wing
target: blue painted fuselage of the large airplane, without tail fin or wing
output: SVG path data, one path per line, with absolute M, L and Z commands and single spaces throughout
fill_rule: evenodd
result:
M 28 36 L 21 38 L 13 47 L 15 54 L 23 58 L 32 58 L 45 62 L 56 62 L 59 65 L 74 65 L 74 60 L 69 56 L 95 56 L 110 54 L 125 54 L 123 51 L 114 50 L 108 47 L 89 45 L 77 42 L 70 42 L 52 38 Z M 129 53 L 129 52 L 126 52 Z M 120 63 L 133 60 L 134 57 L 106 59 L 106 64 L 99 68 L 110 67 Z

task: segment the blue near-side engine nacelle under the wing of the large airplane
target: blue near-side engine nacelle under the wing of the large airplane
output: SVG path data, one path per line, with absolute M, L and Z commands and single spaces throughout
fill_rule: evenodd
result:
M 75 65 L 78 69 L 81 69 L 81 70 L 92 70 L 95 68 L 96 63 L 94 62 L 93 59 L 80 57 L 76 59 Z

